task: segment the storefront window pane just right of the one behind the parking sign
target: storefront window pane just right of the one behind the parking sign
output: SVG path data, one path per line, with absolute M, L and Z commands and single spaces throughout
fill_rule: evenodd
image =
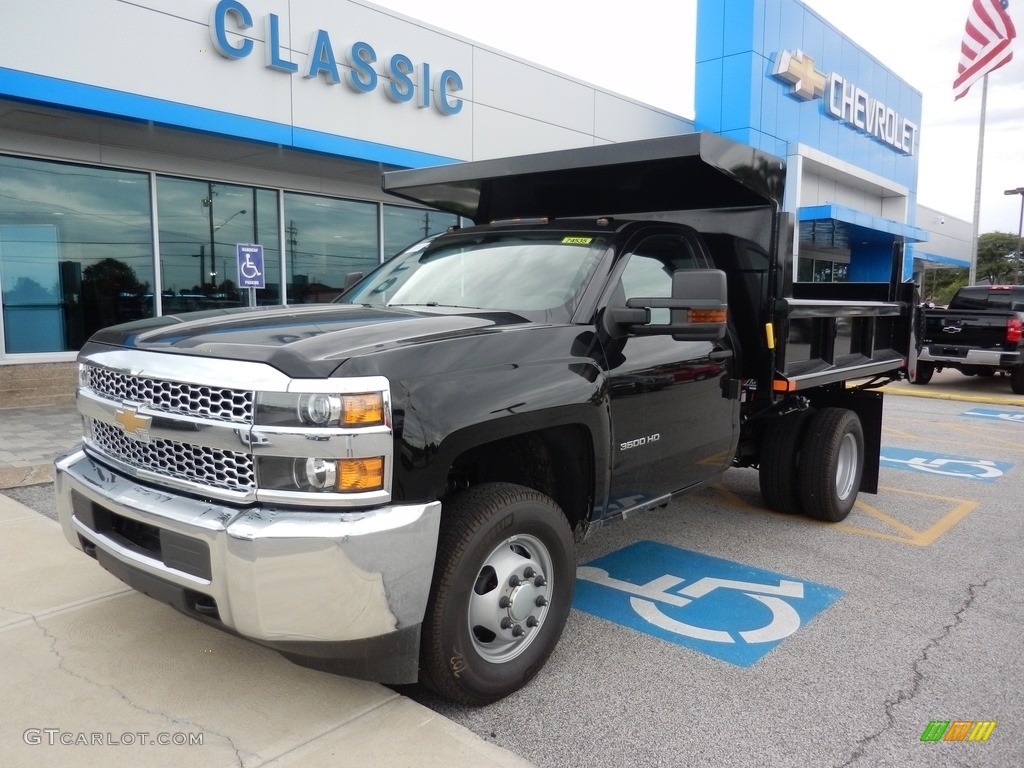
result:
M 377 204 L 285 193 L 288 302 L 334 301 L 379 262 Z

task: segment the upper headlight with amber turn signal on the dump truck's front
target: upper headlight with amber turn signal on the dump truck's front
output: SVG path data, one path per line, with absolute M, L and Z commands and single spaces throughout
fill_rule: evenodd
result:
M 268 427 L 375 427 L 387 423 L 382 392 L 260 392 L 256 423 Z

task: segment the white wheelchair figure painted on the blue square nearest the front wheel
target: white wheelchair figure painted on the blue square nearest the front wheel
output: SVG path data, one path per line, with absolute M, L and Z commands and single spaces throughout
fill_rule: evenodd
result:
M 662 611 L 658 604 L 683 607 L 718 589 L 736 590 L 746 597 L 757 600 L 771 611 L 771 621 L 764 627 L 737 632 L 739 640 L 746 643 L 773 643 L 788 637 L 800 629 L 800 614 L 781 598 L 803 598 L 804 585 L 801 582 L 780 579 L 778 585 L 775 586 L 705 577 L 682 589 L 676 589 L 686 580 L 666 573 L 647 582 L 647 584 L 637 585 L 614 579 L 603 568 L 595 568 L 591 565 L 580 566 L 577 569 L 577 577 L 630 594 L 630 606 L 645 622 L 666 632 L 673 632 L 695 640 L 716 643 L 737 642 L 736 638 L 725 630 L 696 627 L 672 618 Z

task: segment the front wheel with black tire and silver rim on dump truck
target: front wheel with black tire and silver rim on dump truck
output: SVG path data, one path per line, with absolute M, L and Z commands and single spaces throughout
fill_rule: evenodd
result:
M 554 650 L 574 585 L 572 531 L 551 499 L 511 483 L 452 497 L 423 622 L 421 681 L 470 706 L 518 690 Z

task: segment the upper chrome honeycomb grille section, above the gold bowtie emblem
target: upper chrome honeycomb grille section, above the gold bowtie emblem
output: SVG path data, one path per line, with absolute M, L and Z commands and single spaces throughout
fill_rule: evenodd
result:
M 86 366 L 85 371 L 86 385 L 111 399 L 236 424 L 253 423 L 255 393 L 251 390 L 130 376 L 97 366 Z

